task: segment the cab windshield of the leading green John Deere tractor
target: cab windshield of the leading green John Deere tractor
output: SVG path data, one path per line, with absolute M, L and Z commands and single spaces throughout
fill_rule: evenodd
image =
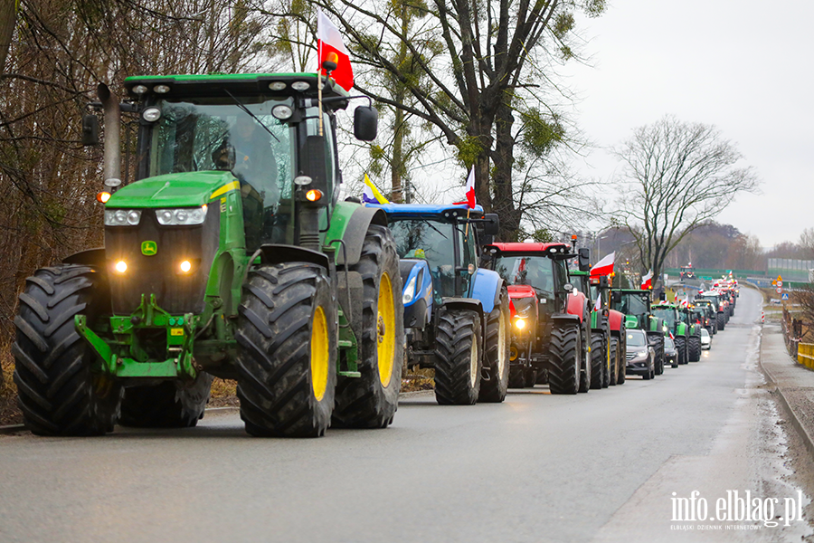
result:
M 226 96 L 185 100 L 156 104 L 161 116 L 150 138 L 149 175 L 231 171 L 241 182 L 244 212 L 251 211 L 248 220 L 263 223 L 252 230 L 264 242 L 284 242 L 274 239 L 280 237 L 274 233 L 284 232 L 288 226 L 279 207 L 290 207 L 291 180 L 297 167 L 296 129 L 276 119 L 271 110 L 290 106 L 291 99 L 241 97 L 238 103 Z

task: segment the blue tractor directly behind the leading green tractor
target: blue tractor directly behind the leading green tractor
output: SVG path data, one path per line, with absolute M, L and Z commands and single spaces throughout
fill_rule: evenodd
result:
M 479 205 L 378 205 L 401 258 L 407 364 L 435 369 L 441 405 L 502 402 L 509 374 L 506 284 L 478 268 L 497 214 Z

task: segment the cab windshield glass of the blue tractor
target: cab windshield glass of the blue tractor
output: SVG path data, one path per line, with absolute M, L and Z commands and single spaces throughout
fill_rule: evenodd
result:
M 399 258 L 420 258 L 430 265 L 436 300 L 455 296 L 452 224 L 429 219 L 393 219 L 390 230 Z

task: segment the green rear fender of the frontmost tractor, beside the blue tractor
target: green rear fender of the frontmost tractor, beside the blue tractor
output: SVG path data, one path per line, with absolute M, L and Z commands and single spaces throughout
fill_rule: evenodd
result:
M 331 225 L 325 234 L 326 244 L 336 246 L 336 263 L 353 266 L 362 256 L 362 246 L 371 224 L 387 226 L 387 215 L 378 207 L 365 207 L 351 202 L 340 202 L 331 215 Z M 341 239 L 343 243 L 337 243 Z M 343 250 L 342 245 L 345 245 Z M 345 253 L 347 262 L 345 262 Z

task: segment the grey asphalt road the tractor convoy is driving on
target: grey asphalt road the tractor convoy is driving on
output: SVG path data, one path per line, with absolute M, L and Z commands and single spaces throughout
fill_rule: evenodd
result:
M 0 541 L 799 541 L 804 522 L 671 519 L 672 492 L 797 496 L 756 369 L 759 306 L 743 289 L 702 361 L 653 381 L 405 398 L 386 430 L 264 440 L 227 412 L 183 431 L 0 437 Z

